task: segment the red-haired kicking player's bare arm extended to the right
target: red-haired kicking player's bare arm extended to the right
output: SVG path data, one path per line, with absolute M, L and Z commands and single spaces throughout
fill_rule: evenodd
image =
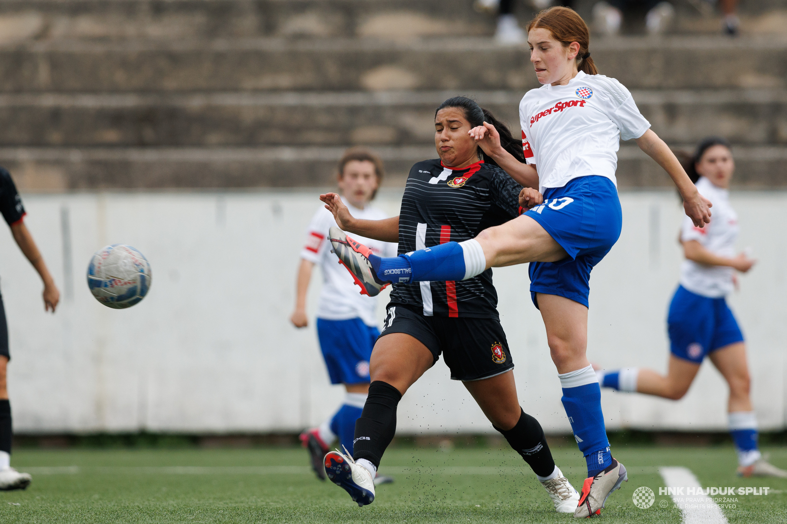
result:
M 637 138 L 637 146 L 656 161 L 670 175 L 683 198 L 683 209 L 696 227 L 711 223 L 711 201 L 703 197 L 683 170 L 672 150 L 652 130 Z

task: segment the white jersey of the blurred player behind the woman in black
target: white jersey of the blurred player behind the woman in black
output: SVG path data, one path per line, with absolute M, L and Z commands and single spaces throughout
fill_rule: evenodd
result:
M 369 206 L 365 209 L 358 209 L 349 205 L 344 198 L 342 201 L 357 219 L 382 220 L 388 218 L 379 209 Z M 377 300 L 360 294 L 360 287 L 355 285 L 353 276 L 342 264 L 339 264 L 338 256 L 331 253 L 331 242 L 327 237 L 328 230 L 335 225 L 336 220 L 331 212 L 320 206 L 312 217 L 312 222 L 309 223 L 306 244 L 301 250 L 301 258 L 318 264 L 323 272 L 323 290 L 317 305 L 317 317 L 328 320 L 360 318 L 367 326 L 375 326 L 377 325 L 375 318 Z M 367 245 L 376 255 L 397 256 L 396 244 L 371 240 L 355 234 L 350 234 L 350 237 Z

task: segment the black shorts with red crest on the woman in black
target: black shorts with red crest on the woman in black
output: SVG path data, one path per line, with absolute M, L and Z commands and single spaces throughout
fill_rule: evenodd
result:
M 434 356 L 442 353 L 453 380 L 469 382 L 512 370 L 505 332 L 497 319 L 423 316 L 401 304 L 389 304 L 380 337 L 405 333 L 416 338 Z

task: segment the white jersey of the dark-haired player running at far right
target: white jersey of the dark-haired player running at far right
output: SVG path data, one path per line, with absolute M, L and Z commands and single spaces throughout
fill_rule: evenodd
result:
M 696 189 L 713 204 L 711 223 L 706 223 L 705 227 L 694 227 L 691 219 L 684 216 L 681 240 L 696 240 L 718 256 L 735 256 L 738 224 L 737 213 L 730 205 L 730 191 L 714 186 L 704 176 L 696 181 Z M 684 260 L 681 286 L 703 297 L 723 297 L 733 290 L 734 273 L 735 270 L 727 266 L 706 266 L 693 260 Z

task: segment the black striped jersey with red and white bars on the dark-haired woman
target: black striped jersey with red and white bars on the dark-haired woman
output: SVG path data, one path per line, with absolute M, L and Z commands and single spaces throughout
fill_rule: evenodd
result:
M 399 254 L 475 238 L 519 216 L 519 186 L 501 168 L 479 161 L 453 170 L 441 161 L 412 166 L 399 214 Z M 391 304 L 426 316 L 499 318 L 492 270 L 460 282 L 393 284 Z

